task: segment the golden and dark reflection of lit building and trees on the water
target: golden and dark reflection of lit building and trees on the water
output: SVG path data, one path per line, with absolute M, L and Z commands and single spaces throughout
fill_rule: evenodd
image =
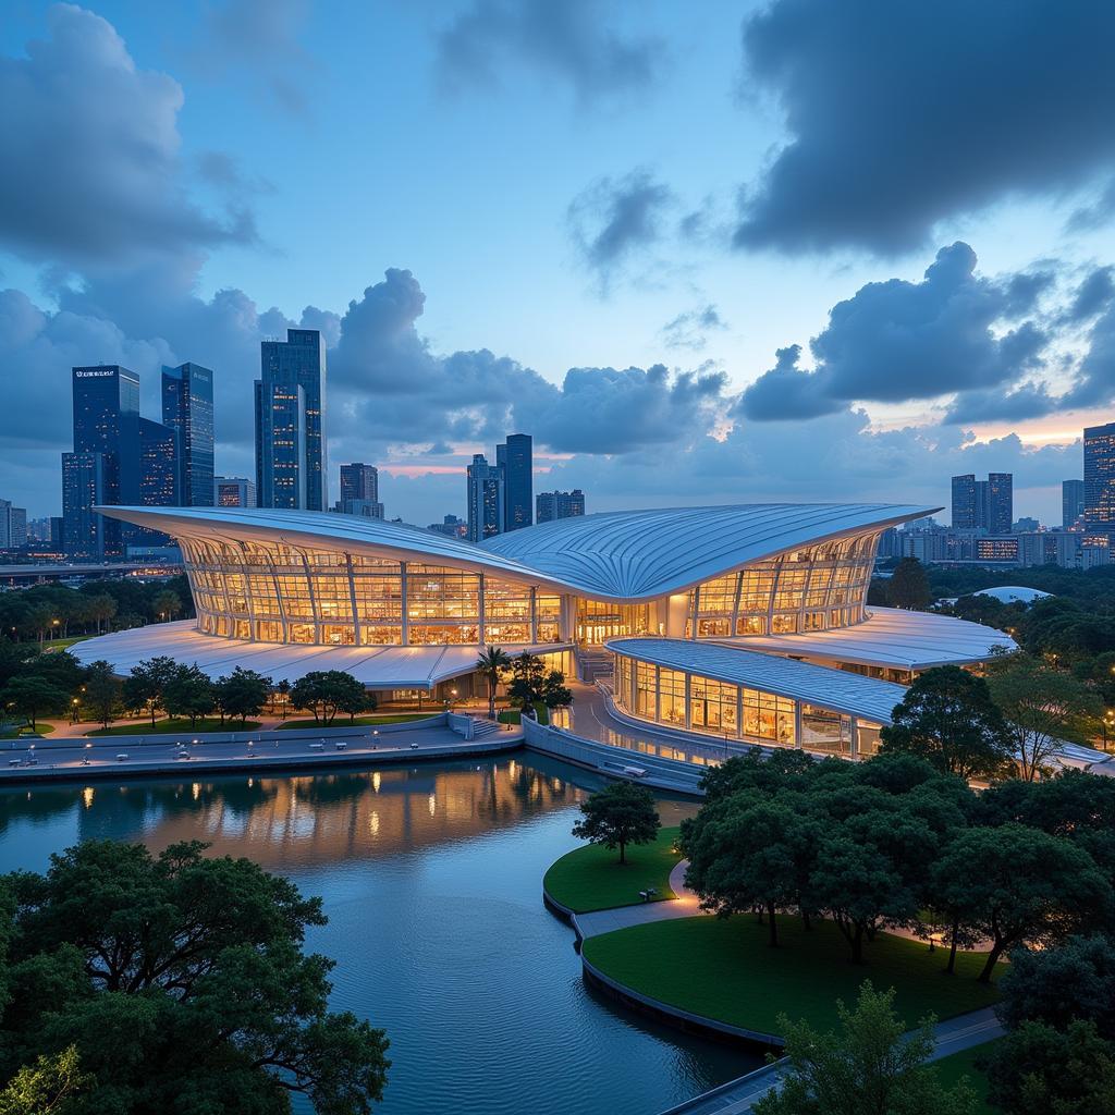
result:
M 321 775 L 51 785 L 0 793 L 0 836 L 37 831 L 51 850 L 59 838 L 61 846 L 142 838 L 152 847 L 204 840 L 215 854 L 248 854 L 264 867 L 288 870 L 394 855 L 513 826 L 580 802 L 585 791 L 569 776 L 569 767 L 532 755 L 529 764 L 502 758 Z M 584 785 L 599 783 L 585 775 Z M 54 838 L 43 831 L 50 828 L 58 830 Z M 16 865 L 10 860 L 3 870 Z

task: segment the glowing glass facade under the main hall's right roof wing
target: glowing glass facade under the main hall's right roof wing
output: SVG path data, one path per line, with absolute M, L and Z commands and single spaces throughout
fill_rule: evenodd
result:
M 860 623 L 878 542 L 878 533 L 838 539 L 706 581 L 689 592 L 686 638 L 795 634 Z

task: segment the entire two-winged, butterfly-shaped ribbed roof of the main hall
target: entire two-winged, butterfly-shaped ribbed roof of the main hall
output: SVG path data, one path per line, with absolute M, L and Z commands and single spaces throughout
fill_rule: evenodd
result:
M 939 510 L 885 503 L 767 503 L 619 511 L 529 526 L 474 545 L 415 526 L 316 511 L 97 508 L 176 536 L 232 543 L 285 541 L 401 561 L 418 556 L 609 600 L 651 600 L 680 592 L 747 562 L 881 531 Z

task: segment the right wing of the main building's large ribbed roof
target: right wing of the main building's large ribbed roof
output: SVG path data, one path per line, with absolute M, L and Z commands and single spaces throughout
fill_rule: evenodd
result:
M 649 599 L 827 539 L 939 511 L 885 503 L 764 503 L 618 511 L 498 534 L 481 549 L 593 595 Z

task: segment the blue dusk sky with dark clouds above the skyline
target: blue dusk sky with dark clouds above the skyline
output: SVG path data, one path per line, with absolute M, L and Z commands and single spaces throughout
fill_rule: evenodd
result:
M 57 514 L 69 369 L 217 381 L 330 345 L 333 465 L 464 513 L 531 433 L 590 511 L 946 504 L 1060 521 L 1115 419 L 1115 4 L 9 0 L 0 497 Z

